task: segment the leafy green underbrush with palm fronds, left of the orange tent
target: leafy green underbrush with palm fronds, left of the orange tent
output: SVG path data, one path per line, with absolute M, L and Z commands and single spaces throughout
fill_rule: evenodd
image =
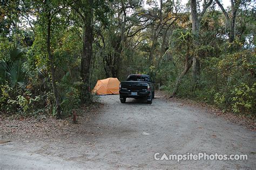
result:
M 17 45 L 10 45 L 1 54 L 3 56 L 0 58 L 0 114 L 14 118 L 42 115 L 55 117 L 56 99 L 52 91 L 48 63 L 44 63 L 44 60 L 40 62 L 35 58 L 37 55 L 35 51 L 25 52 Z M 72 77 L 70 70 L 56 67 L 55 76 L 62 118 L 69 117 L 72 115 L 72 110 L 77 110 L 82 105 L 81 89 L 85 85 L 78 76 Z M 76 70 L 72 70 L 72 73 L 75 74 Z M 83 98 L 86 98 L 84 102 L 86 105 L 96 101 L 95 96 L 89 92 Z

